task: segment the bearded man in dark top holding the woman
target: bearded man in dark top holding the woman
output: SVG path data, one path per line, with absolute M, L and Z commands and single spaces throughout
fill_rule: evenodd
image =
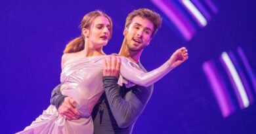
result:
M 139 68 L 146 72 L 140 64 L 140 55 L 152 37 L 161 26 L 161 17 L 158 13 L 140 8 L 131 12 L 125 22 L 123 35 L 125 39 L 121 46 L 119 56 L 125 56 L 137 63 Z M 185 50 L 183 48 L 183 50 Z M 174 65 L 181 64 L 186 59 L 174 58 Z M 106 59 L 103 71 L 105 93 L 102 94 L 98 104 L 93 110 L 94 133 L 131 133 L 133 125 L 153 92 L 153 86 L 143 87 L 135 85 L 126 88 L 117 85 L 119 63 L 117 58 Z M 60 86 L 54 88 L 51 103 L 67 120 L 79 118 L 79 111 L 75 109 L 75 101 L 60 93 Z

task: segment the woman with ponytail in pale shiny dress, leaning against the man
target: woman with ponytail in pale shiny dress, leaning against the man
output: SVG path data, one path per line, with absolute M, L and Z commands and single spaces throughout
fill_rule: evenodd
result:
M 102 69 L 104 59 L 108 57 L 102 51 L 102 47 L 107 44 L 111 35 L 111 19 L 103 12 L 90 12 L 81 21 L 81 37 L 71 41 L 64 50 L 60 76 L 61 92 L 75 100 L 81 118 L 66 120 L 58 114 L 53 105 L 50 105 L 20 133 L 93 133 L 91 111 L 104 92 Z M 175 56 L 186 59 L 186 50 Z M 119 83 L 125 83 L 127 86 L 133 86 L 133 83 L 149 86 L 173 69 L 169 65 L 171 62 L 167 61 L 158 69 L 144 73 L 135 68 L 136 64 L 129 59 L 123 57 L 119 59 L 121 60 Z

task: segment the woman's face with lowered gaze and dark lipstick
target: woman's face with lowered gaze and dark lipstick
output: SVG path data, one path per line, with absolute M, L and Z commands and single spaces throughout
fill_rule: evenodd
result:
M 100 48 L 108 43 L 110 38 L 110 22 L 105 16 L 98 16 L 93 21 L 89 31 L 89 42 L 95 48 Z

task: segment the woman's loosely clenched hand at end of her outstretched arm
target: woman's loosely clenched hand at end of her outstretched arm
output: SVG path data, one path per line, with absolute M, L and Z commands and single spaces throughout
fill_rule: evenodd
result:
M 182 47 L 173 53 L 168 63 L 170 67 L 173 69 L 181 63 L 183 63 L 184 61 L 186 61 L 186 59 L 188 59 L 188 50 L 186 50 L 185 47 Z

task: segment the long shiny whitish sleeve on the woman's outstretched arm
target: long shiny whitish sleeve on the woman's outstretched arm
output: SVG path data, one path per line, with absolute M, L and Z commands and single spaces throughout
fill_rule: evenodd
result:
M 143 71 L 133 67 L 133 64 L 135 63 L 132 63 L 129 59 L 121 57 L 120 74 L 126 80 L 140 86 L 150 86 L 171 71 L 171 67 L 169 67 L 167 62 L 148 73 L 144 73 Z

